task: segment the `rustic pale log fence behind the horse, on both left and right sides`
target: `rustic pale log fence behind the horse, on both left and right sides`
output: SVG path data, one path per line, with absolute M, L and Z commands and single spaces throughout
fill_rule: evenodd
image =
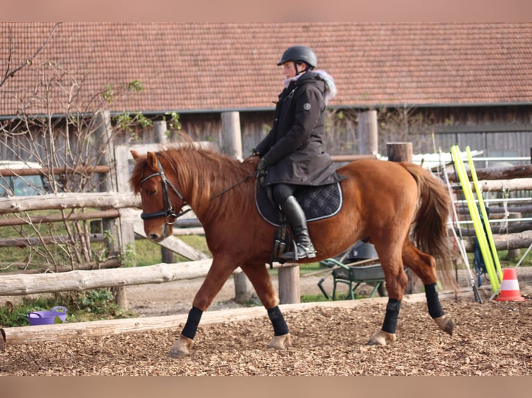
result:
M 224 117 L 226 123 L 234 125 L 238 121 L 230 115 Z M 369 115 L 371 116 L 371 115 Z M 369 117 L 369 121 L 373 120 Z M 369 122 L 368 122 L 369 123 Z M 376 121 L 375 121 L 376 123 Z M 102 123 L 105 124 L 105 123 Z M 370 125 L 372 123 L 369 123 Z M 233 126 L 234 127 L 234 126 Z M 165 126 L 156 125 L 156 129 L 159 132 L 165 131 Z M 370 126 L 369 130 L 376 130 Z M 231 135 L 227 139 L 227 142 L 235 143 L 238 146 L 238 138 L 235 138 L 235 131 L 238 133 L 240 130 L 235 128 L 227 128 L 226 134 Z M 237 134 L 238 135 L 238 134 Z M 163 134 L 159 134 L 163 137 Z M 376 139 L 368 139 L 368 148 L 365 153 L 371 153 L 374 157 L 376 153 L 375 148 L 372 148 L 376 144 Z M 128 186 L 128 179 L 130 173 L 131 162 L 131 149 L 138 149 L 140 152 L 146 152 L 147 150 L 158 150 L 160 144 L 164 144 L 163 138 L 160 139 L 160 143 L 147 145 L 142 144 L 138 148 L 135 146 L 115 146 L 112 148 L 111 153 L 113 157 L 107 159 L 108 164 L 99 165 L 99 167 L 106 167 L 110 164 L 114 165 L 113 168 L 109 168 L 110 175 L 113 176 L 113 180 L 107 184 L 107 192 L 102 193 L 57 193 L 52 195 L 44 195 L 38 197 L 10 197 L 0 198 L 0 214 L 13 214 L 20 211 L 30 211 L 39 209 L 85 209 L 85 208 L 97 208 L 100 210 L 82 213 L 76 215 L 77 217 L 89 218 L 103 218 L 105 221 L 106 230 L 110 230 L 117 236 L 115 243 L 115 250 L 118 252 L 124 250 L 128 245 L 135 240 L 135 234 L 143 236 L 142 220 L 140 219 L 140 198 L 133 196 Z M 397 152 L 399 150 L 399 152 Z M 232 152 L 231 152 L 232 151 Z M 241 157 L 241 153 L 234 148 L 226 148 L 226 153 L 230 153 L 235 157 Z M 390 151 L 392 155 L 401 154 L 401 148 L 393 148 Z M 365 157 L 366 155 L 354 155 L 352 157 L 333 157 L 337 162 L 349 162 L 359 157 Z M 103 168 L 99 169 L 99 172 L 103 171 Z M 28 172 L 28 171 L 26 171 Z M 526 168 L 522 171 L 519 169 L 518 178 L 513 178 L 512 174 L 508 170 L 501 170 L 497 172 L 477 171 L 479 178 L 483 178 L 480 182 L 482 189 L 500 189 L 504 186 L 506 189 L 532 189 L 532 175 L 531 169 Z M 516 170 L 512 171 L 516 173 Z M 489 177 L 496 176 L 496 180 L 492 180 Z M 502 178 L 505 178 L 504 182 L 501 182 Z M 451 178 L 453 178 L 451 176 Z M 72 216 L 74 217 L 74 216 Z M 1 220 L 1 225 L 8 225 L 9 223 L 17 223 L 15 218 L 10 220 Z M 54 222 L 52 218 L 41 218 L 33 220 L 34 222 Z M 201 233 L 201 226 L 197 225 L 197 220 L 181 219 L 178 220 L 177 225 L 188 228 L 194 228 L 194 233 Z M 179 228 L 175 229 L 175 235 L 183 233 L 184 230 Z M 187 232 L 185 232 L 187 233 Z M 177 252 L 191 261 L 183 263 L 172 263 L 163 261 L 163 263 L 156 264 L 154 266 L 147 266 L 142 268 L 110 268 L 102 270 L 74 270 L 69 272 L 61 272 L 58 274 L 46 274 L 46 275 L 1 275 L 0 276 L 0 296 L 1 295 L 27 295 L 33 293 L 50 293 L 55 291 L 83 291 L 90 288 L 99 287 L 113 287 L 116 289 L 122 289 L 118 297 L 118 302 L 124 308 L 127 307 L 126 297 L 124 293 L 124 286 L 135 284 L 153 284 L 171 282 L 179 279 L 195 279 L 205 277 L 208 267 L 210 266 L 210 259 L 206 254 L 198 252 L 194 248 L 186 245 L 176 236 L 170 236 L 163 241 L 165 250 L 170 252 Z M 506 248 L 526 248 L 532 243 L 532 228 L 519 231 L 511 236 L 494 236 L 497 249 Z M 21 244 L 21 241 L 15 241 L 15 244 Z M 6 241 L 0 240 L 0 246 L 7 245 Z M 473 251 L 472 241 L 465 242 L 466 250 Z M 266 266 L 266 265 L 265 265 Z M 287 264 L 285 266 L 279 266 L 279 298 L 282 304 L 297 303 L 299 302 L 299 266 L 295 264 Z M 240 269 L 235 271 L 235 278 L 244 275 L 240 272 Z M 244 291 L 249 291 L 249 286 L 245 286 Z M 237 284 L 235 279 L 235 285 Z M 235 286 L 235 294 L 237 294 L 239 287 Z M 242 291 L 242 288 L 240 287 Z M 122 295 L 122 296 L 121 296 Z M 192 297 L 191 297 L 192 298 Z

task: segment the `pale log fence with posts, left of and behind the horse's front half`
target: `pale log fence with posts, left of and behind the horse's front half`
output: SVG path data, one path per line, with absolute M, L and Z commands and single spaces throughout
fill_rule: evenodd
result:
M 230 112 L 231 113 L 231 112 Z M 230 147 L 222 148 L 224 153 L 234 157 L 242 157 L 241 151 L 235 150 L 238 146 L 237 139 L 240 130 L 235 129 L 234 114 L 222 115 L 224 121 L 224 134 L 226 134 L 226 142 L 230 143 Z M 103 120 L 99 121 L 99 126 L 102 126 L 101 131 L 98 132 L 102 137 L 108 134 L 109 115 L 103 114 Z M 141 153 L 147 150 L 159 150 L 161 144 L 165 144 L 165 122 L 156 122 L 156 144 L 141 144 L 138 146 L 113 146 L 110 144 L 109 153 L 112 156 L 106 156 L 103 159 L 103 164 L 99 164 L 93 171 L 97 173 L 106 173 L 104 178 L 104 192 L 100 193 L 54 193 L 43 196 L 28 196 L 28 197 L 8 197 L 0 198 L 0 214 L 15 214 L 24 211 L 47 210 L 47 209 L 83 209 L 81 214 L 70 214 L 65 216 L 39 216 L 28 220 L 21 220 L 19 217 L 12 217 L 0 220 L 1 226 L 6 225 L 22 225 L 28 223 L 53 223 L 63 220 L 91 220 L 102 219 L 103 230 L 110 232 L 115 239 L 113 239 L 110 250 L 112 252 L 121 253 L 129 248 L 134 247 L 133 243 L 136 236 L 144 236 L 144 228 L 140 218 L 141 206 L 140 197 L 133 196 L 128 184 L 130 175 L 130 162 L 132 160 L 130 150 L 135 149 Z M 238 134 L 235 134 L 238 133 Z M 112 142 L 110 139 L 106 141 Z M 203 143 L 201 145 L 210 145 Z M 113 165 L 114 167 L 110 167 Z M 31 175 L 39 173 L 49 173 L 49 170 L 24 170 L 24 171 L 5 171 L 5 173 L 16 173 L 18 175 Z M 64 173 L 63 168 L 56 168 L 53 173 Z M 69 170 L 72 172 L 72 170 Z M 85 209 L 100 209 L 96 211 L 85 211 Z M 197 222 L 197 220 L 196 220 Z M 192 233 L 201 233 L 203 229 L 194 223 L 194 220 L 178 220 L 177 225 L 189 224 L 185 230 Z M 191 225 L 192 224 L 192 225 Z M 203 252 L 186 245 L 181 239 L 175 235 L 180 234 L 183 230 L 175 228 L 174 236 L 169 236 L 165 241 L 159 243 L 163 246 L 163 263 L 155 266 L 147 266 L 142 268 L 113 268 L 120 266 L 119 261 L 111 261 L 107 264 L 99 264 L 99 270 L 70 270 L 60 273 L 48 273 L 44 275 L 1 275 L 0 276 L 0 296 L 1 295 L 28 295 L 34 293 L 53 293 L 59 291 L 83 291 L 90 288 L 111 287 L 115 289 L 115 297 L 117 303 L 124 309 L 127 308 L 127 299 L 125 295 L 124 286 L 135 284 L 151 284 L 171 282 L 179 279 L 195 279 L 206 276 L 206 272 L 210 266 L 210 259 L 208 255 Z M 190 233 L 190 232 L 185 232 Z M 94 236 L 93 236 L 94 238 Z M 101 234 L 97 239 L 103 239 Z M 35 244 L 42 244 L 47 242 L 47 237 L 40 237 L 33 241 Z M 26 238 L 21 239 L 0 239 L 0 246 L 6 247 L 8 245 L 28 245 L 32 241 Z M 166 255 L 168 253 L 176 252 L 183 257 L 188 258 L 191 262 L 184 263 L 169 263 L 165 261 L 172 256 Z M 79 265 L 81 268 L 83 266 Z M 89 268 L 94 264 L 89 264 Z M 107 268 L 107 266 L 112 268 Z M 266 266 L 266 265 L 265 265 Z M 299 302 L 299 266 L 296 264 L 286 264 L 280 266 L 275 264 L 279 270 L 279 298 L 284 303 Z M 67 269 L 67 267 L 64 267 Z M 294 275 L 297 274 L 297 278 Z M 244 298 L 251 295 L 251 286 L 247 284 L 246 279 L 242 278 L 243 272 L 240 268 L 235 270 L 235 285 L 237 278 L 244 282 L 242 286 L 235 286 L 235 295 L 239 293 Z M 238 300 L 238 297 L 236 297 Z M 192 297 L 191 297 L 192 299 Z M 240 299 L 243 301 L 244 299 Z

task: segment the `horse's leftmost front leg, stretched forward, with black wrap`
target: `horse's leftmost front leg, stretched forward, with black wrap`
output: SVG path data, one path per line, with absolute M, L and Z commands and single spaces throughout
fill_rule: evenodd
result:
M 192 353 L 194 347 L 194 337 L 198 329 L 203 311 L 207 311 L 215 296 L 224 286 L 224 283 L 231 276 L 235 267 L 230 265 L 230 261 L 213 260 L 213 265 L 201 284 L 199 291 L 192 302 L 192 309 L 188 313 L 187 322 L 181 331 L 176 343 L 168 354 L 169 358 L 183 358 Z

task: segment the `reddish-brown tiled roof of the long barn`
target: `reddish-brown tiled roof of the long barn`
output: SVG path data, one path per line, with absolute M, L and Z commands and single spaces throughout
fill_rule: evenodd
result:
M 18 65 L 52 27 L 3 24 L 0 69 L 8 29 Z M 44 61 L 84 80 L 85 96 L 141 80 L 144 91 L 113 111 L 271 109 L 283 78 L 276 62 L 292 44 L 311 46 L 335 78 L 331 106 L 532 104 L 529 23 L 64 23 L 33 66 L 0 87 L 0 113 L 17 111 L 15 96 L 33 89 Z

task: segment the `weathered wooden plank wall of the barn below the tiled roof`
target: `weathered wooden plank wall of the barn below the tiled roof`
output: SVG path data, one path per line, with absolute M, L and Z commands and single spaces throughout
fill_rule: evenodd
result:
M 324 141 L 327 152 L 333 155 L 359 153 L 359 112 L 353 109 L 328 111 Z M 272 119 L 273 111 L 240 112 L 244 156 L 249 155 L 251 149 L 265 137 L 272 126 Z M 192 139 L 212 141 L 221 147 L 222 121 L 219 113 L 181 114 L 180 121 L 182 132 Z M 458 144 L 460 148 L 469 146 L 472 150 L 483 150 L 484 155 L 490 157 L 529 157 L 532 148 L 532 106 L 379 109 L 378 123 L 381 155 L 386 155 L 386 143 L 392 141 L 412 142 L 414 153 L 433 153 L 440 148 L 447 152 L 452 145 Z M 63 125 L 55 123 L 55 147 L 76 148 L 76 135 L 70 135 L 68 145 L 65 142 Z M 27 151 L 30 144 L 24 141 L 22 135 L 6 131 L 9 130 L 3 128 L 0 133 L 1 159 L 15 159 L 14 153 L 20 155 L 22 150 L 30 154 L 39 153 L 43 158 L 51 150 L 49 143 L 43 139 L 34 150 Z M 115 144 L 151 143 L 154 137 L 153 127 L 121 132 L 115 137 Z M 172 133 L 170 141 L 175 140 L 175 133 Z

